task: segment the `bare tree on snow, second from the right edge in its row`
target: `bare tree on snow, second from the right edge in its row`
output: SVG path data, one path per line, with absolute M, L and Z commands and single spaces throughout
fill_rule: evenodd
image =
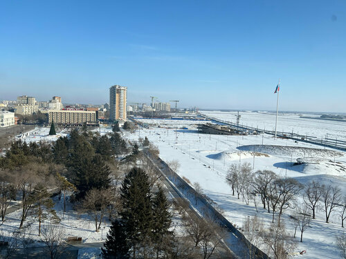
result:
M 325 186 L 322 191 L 322 211 L 325 211 L 325 222 L 329 223 L 331 211 L 334 211 L 340 202 L 341 190 L 336 186 Z

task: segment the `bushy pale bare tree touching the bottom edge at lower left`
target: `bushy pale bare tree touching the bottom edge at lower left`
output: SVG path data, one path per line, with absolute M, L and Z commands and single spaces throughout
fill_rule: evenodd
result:
M 42 242 L 51 259 L 59 258 L 66 250 L 65 231 L 57 224 L 46 224 L 42 228 Z

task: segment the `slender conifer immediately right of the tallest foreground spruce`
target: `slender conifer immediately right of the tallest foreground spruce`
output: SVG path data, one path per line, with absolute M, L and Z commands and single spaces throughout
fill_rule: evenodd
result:
M 164 246 L 164 240 L 167 237 L 172 236 L 173 233 L 170 231 L 172 224 L 172 215 L 170 213 L 170 203 L 167 200 L 165 193 L 161 186 L 158 187 L 158 191 L 155 193 L 153 198 L 153 239 L 156 248 L 156 258 L 158 258 L 158 253 L 167 249 Z

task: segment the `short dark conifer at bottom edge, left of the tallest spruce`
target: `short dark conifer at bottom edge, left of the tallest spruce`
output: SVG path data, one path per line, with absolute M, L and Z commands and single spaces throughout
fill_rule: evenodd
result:
M 115 220 L 111 223 L 109 233 L 107 233 L 104 248 L 102 248 L 103 258 L 127 259 L 129 258 L 129 246 L 127 244 L 127 234 L 122 221 Z

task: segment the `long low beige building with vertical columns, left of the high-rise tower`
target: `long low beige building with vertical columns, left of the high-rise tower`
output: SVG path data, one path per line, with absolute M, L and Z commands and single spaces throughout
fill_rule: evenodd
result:
M 96 123 L 97 115 L 95 111 L 49 111 L 48 122 L 54 122 L 55 124 L 84 124 L 86 122 Z

